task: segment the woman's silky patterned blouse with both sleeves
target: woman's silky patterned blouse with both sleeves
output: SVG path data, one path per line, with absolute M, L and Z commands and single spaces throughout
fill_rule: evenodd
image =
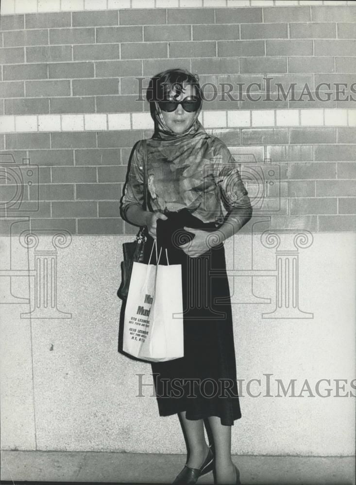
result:
M 140 141 L 132 154 L 121 201 L 125 220 L 130 205 L 143 205 L 143 159 Z M 242 225 L 251 217 L 250 198 L 237 162 L 225 144 L 206 133 L 198 120 L 183 137 L 147 140 L 147 174 L 153 211 L 187 208 L 204 223 L 218 226 L 225 217 L 238 219 Z

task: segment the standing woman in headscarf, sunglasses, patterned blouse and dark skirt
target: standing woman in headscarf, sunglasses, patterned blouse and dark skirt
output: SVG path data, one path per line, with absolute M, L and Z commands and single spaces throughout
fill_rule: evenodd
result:
M 156 239 L 158 251 L 168 248 L 169 263 L 182 265 L 185 355 L 151 364 L 159 414 L 177 413 L 187 441 L 186 466 L 173 483 L 196 483 L 214 468 L 218 484 L 238 484 L 231 426 L 241 412 L 223 242 L 251 218 L 250 199 L 229 150 L 198 120 L 197 76 L 185 69 L 159 73 L 147 99 L 155 128 L 146 152 L 151 211 L 142 209 L 144 153 L 138 142 L 121 216 L 147 226 L 146 262 Z

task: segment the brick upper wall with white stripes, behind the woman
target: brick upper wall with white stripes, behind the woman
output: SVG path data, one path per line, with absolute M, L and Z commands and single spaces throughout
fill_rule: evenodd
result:
M 356 6 L 335 3 L 2 0 L 1 215 L 34 229 L 136 233 L 119 217 L 132 146 L 153 128 L 136 78 L 145 87 L 182 66 L 205 84 L 203 126 L 241 164 L 254 220 L 353 230 Z

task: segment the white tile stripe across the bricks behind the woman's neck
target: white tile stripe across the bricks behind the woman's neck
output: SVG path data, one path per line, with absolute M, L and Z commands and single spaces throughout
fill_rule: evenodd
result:
M 203 111 L 204 128 L 356 126 L 356 109 Z M 0 133 L 153 129 L 150 113 L 83 113 L 0 116 Z

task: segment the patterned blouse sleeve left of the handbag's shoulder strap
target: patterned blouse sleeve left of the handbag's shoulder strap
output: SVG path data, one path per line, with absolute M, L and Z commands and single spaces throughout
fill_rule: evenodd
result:
M 120 213 L 122 219 L 130 222 L 126 218 L 127 209 L 133 205 L 143 207 L 143 154 L 141 153 L 141 144 L 137 143 L 131 157 L 131 162 L 128 167 L 127 179 L 123 190 L 123 195 L 120 200 Z

